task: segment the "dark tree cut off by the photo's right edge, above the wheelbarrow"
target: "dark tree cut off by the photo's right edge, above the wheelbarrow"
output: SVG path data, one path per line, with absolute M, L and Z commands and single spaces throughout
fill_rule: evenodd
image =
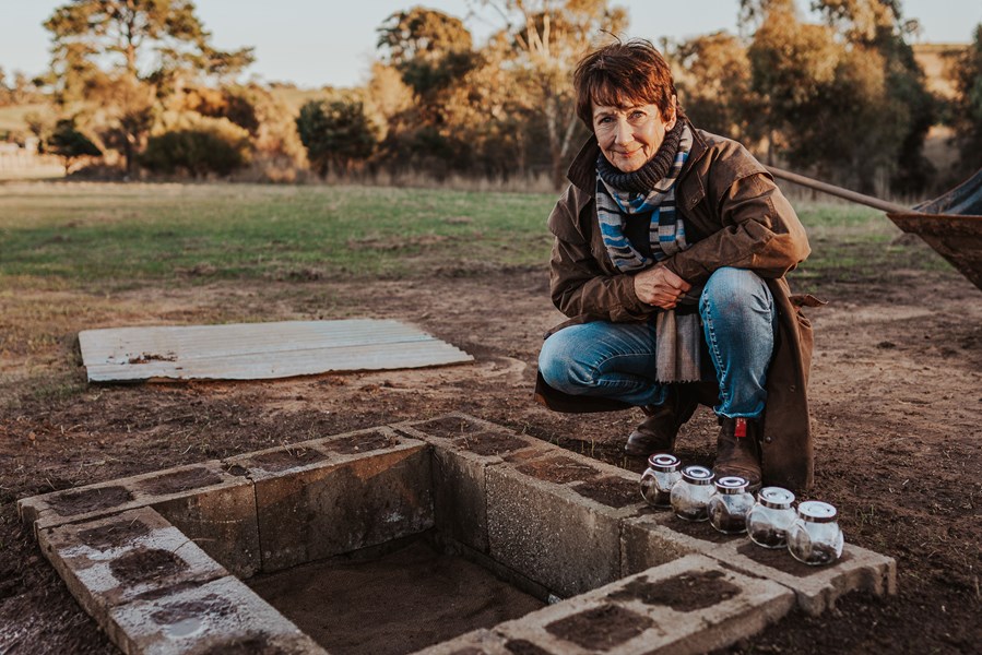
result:
M 982 24 L 953 67 L 956 98 L 951 104 L 951 127 L 961 152 L 959 174 L 982 168 Z

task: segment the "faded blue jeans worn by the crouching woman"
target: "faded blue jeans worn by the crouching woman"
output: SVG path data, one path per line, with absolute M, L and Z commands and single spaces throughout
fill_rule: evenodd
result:
M 778 325 L 770 289 L 753 271 L 719 269 L 702 289 L 699 314 L 720 385 L 715 413 L 757 418 L 767 402 Z M 539 355 L 539 370 L 553 389 L 638 406 L 665 401 L 669 385 L 654 379 L 654 320 L 570 325 L 551 335 Z

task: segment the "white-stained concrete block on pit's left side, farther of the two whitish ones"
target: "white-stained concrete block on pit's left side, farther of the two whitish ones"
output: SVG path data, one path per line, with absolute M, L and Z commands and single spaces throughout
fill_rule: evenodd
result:
M 150 508 L 38 531 L 42 552 L 103 628 L 108 611 L 228 575 Z

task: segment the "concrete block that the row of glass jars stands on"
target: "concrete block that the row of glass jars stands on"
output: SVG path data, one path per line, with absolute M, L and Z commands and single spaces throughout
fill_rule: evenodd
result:
M 646 545 L 647 552 L 643 550 Z M 738 571 L 773 580 L 794 591 L 798 606 L 813 616 L 833 607 L 837 598 L 852 591 L 883 596 L 897 590 L 896 561 L 853 544 L 845 544 L 842 557 L 836 563 L 809 567 L 795 560 L 785 549 L 768 550 L 746 535 L 721 535 L 708 522 L 686 523 L 671 512 L 625 522 L 623 546 L 626 569 L 643 565 L 646 561 L 659 561 L 660 553 L 703 553 Z

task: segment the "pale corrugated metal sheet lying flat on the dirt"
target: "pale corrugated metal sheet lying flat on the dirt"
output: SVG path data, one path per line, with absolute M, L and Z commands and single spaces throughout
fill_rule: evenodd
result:
M 79 342 L 90 382 L 260 380 L 473 361 L 415 327 L 370 319 L 85 330 Z

